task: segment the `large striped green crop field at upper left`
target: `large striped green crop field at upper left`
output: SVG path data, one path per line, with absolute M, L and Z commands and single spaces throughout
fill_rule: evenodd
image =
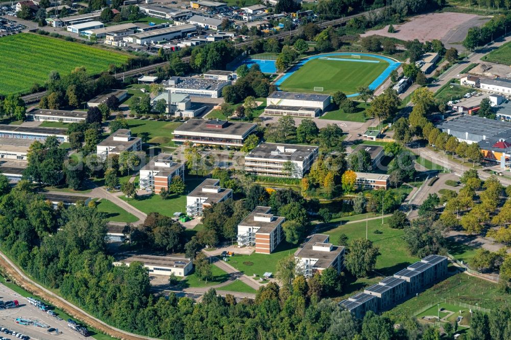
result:
M 0 94 L 27 91 L 51 71 L 68 74 L 84 66 L 90 74 L 125 64 L 129 56 L 47 36 L 20 33 L 0 38 Z

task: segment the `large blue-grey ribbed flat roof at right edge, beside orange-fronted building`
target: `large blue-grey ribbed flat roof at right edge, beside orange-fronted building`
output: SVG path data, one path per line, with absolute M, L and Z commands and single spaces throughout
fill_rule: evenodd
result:
M 454 130 L 463 134 L 468 132 L 474 135 L 484 135 L 487 138 L 504 130 L 511 130 L 511 123 L 464 114 L 437 125 L 437 128 Z

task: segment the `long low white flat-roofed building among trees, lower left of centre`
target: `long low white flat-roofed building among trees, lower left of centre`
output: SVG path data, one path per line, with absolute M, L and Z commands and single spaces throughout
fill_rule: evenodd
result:
M 129 265 L 132 262 L 142 262 L 151 275 L 187 276 L 193 269 L 191 259 L 172 256 L 155 256 L 145 254 L 120 254 L 113 262 L 114 265 Z

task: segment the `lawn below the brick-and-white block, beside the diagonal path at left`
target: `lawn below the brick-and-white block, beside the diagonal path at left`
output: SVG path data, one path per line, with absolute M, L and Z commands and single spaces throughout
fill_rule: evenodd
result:
M 176 211 L 186 211 L 186 194 L 195 189 L 203 180 L 203 177 L 195 176 L 186 178 L 184 183 L 187 185 L 187 188 L 185 189 L 184 194 L 178 197 L 174 196 L 167 200 L 162 199 L 159 195 L 155 195 L 154 193 L 151 195 L 138 196 L 136 199 L 126 198 L 125 196 L 120 196 L 120 198 L 146 214 L 159 212 L 162 215 L 172 217 Z

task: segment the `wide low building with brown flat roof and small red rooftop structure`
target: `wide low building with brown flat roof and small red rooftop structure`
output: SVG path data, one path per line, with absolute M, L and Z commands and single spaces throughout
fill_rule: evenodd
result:
M 254 132 L 256 124 L 227 122 L 227 120 L 189 119 L 177 127 L 172 140 L 177 144 L 191 141 L 195 144 L 242 147 L 245 138 Z

